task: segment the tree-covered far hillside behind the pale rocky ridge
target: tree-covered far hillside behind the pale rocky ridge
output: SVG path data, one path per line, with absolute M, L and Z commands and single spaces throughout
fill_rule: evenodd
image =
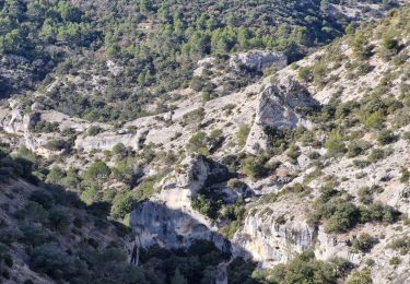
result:
M 129 120 L 147 115 L 144 106 L 155 98 L 155 111 L 166 110 L 168 92 L 190 85 L 194 64 L 204 56 L 224 61 L 231 52 L 271 49 L 294 61 L 341 35 L 348 22 L 329 13 L 330 2 L 2 0 L 0 55 L 24 57 L 10 59 L 10 68 L 30 67 L 32 88 L 44 79 L 44 86 L 57 76 L 84 80 L 54 85 L 43 97 L 48 108 Z M 118 72 L 107 72 L 107 59 Z M 19 84 L 27 81 L 0 80 L 2 94 L 22 91 Z M 92 80 L 104 87 L 89 93 Z

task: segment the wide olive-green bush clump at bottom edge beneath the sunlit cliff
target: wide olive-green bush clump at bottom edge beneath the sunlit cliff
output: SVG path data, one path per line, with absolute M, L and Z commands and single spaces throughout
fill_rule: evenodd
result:
M 269 275 L 270 283 L 338 283 L 350 269 L 350 263 L 341 259 L 327 262 L 316 260 L 312 251 L 305 251 L 286 264 L 279 264 Z

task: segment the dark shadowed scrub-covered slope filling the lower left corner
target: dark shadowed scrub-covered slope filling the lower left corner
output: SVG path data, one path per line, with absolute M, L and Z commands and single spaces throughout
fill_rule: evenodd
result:
M 199 240 L 187 249 L 147 248 L 141 251 L 140 265 L 134 267 L 129 263 L 126 244 L 131 239 L 130 229 L 109 221 L 103 204 L 86 205 L 73 192 L 42 184 L 34 176 L 35 166 L 22 157 L 10 157 L 7 145 L 0 153 L 0 184 L 10 187 L 0 193 L 1 214 L 5 214 L 0 222 L 2 280 L 17 277 L 13 273 L 22 261 L 21 253 L 34 272 L 52 281 L 75 283 L 213 283 L 218 264 L 230 258 L 213 242 Z M 54 168 L 47 179 L 60 181 L 61 173 Z M 97 162 L 84 173 L 84 179 L 104 179 L 108 174 L 109 168 Z M 16 178 L 30 178 L 39 187 L 34 191 L 34 186 L 13 187 Z M 24 198 L 16 202 L 16 193 Z M 255 263 L 235 259 L 227 272 L 233 283 L 241 283 L 251 281 L 254 269 Z M 19 277 L 26 283 L 34 281 Z

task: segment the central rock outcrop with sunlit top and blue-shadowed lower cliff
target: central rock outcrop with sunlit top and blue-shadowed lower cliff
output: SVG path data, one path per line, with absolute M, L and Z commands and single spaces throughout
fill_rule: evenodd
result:
M 166 177 L 160 192 L 131 212 L 130 225 L 142 247 L 188 247 L 195 240 L 211 240 L 225 252 L 238 253 L 216 232 L 212 222 L 192 210 L 191 198 L 208 184 L 226 180 L 227 169 L 201 155 L 188 157 L 180 170 Z

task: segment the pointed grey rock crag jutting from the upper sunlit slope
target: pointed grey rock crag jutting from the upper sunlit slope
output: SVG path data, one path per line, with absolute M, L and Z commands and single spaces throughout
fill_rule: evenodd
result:
M 319 103 L 297 81 L 286 79 L 268 86 L 260 94 L 256 118 L 246 142 L 246 151 L 255 154 L 259 150 L 267 150 L 266 128 L 311 127 L 311 122 L 303 118 L 303 113 L 318 106 Z

